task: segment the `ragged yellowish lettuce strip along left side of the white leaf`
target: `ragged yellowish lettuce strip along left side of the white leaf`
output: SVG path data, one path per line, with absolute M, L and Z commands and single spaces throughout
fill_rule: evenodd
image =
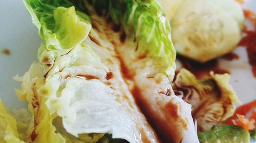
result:
M 34 62 L 30 70 L 18 79 L 23 81 L 22 90 L 16 90 L 16 94 L 28 101 L 28 107 L 33 115 L 32 119 L 34 119 L 28 128 L 27 142 L 64 143 L 65 138 L 55 133 L 56 129 L 52 125 L 53 117 L 50 116 L 49 109 L 45 104 L 47 97 L 41 96 L 44 91 L 38 92 L 39 87 L 45 83 L 40 64 Z

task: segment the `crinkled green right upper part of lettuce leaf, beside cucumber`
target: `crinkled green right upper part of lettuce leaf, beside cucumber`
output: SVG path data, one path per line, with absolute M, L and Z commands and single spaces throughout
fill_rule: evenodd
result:
M 157 72 L 174 77 L 176 51 L 170 37 L 170 25 L 157 1 L 84 1 L 87 9 L 99 15 L 110 15 L 113 22 L 123 26 L 127 39 L 138 42 L 135 55 L 147 55 L 158 67 Z M 81 6 L 80 6 L 81 7 Z M 135 48 L 133 46 L 126 48 Z

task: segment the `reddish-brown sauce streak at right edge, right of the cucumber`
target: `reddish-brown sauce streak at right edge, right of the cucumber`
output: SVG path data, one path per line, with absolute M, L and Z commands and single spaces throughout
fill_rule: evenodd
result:
M 244 15 L 254 24 L 254 31 L 248 31 L 244 28 L 244 33 L 246 36 L 242 38 L 238 45 L 245 46 L 249 64 L 252 67 L 253 76 L 256 78 L 256 14 L 250 10 L 244 10 Z

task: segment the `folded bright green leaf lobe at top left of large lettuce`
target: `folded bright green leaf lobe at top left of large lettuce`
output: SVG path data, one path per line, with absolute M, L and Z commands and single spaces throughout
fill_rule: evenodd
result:
M 24 0 L 25 6 L 38 27 L 45 42 L 38 50 L 37 58 L 44 65 L 44 74 L 53 66 L 55 58 L 66 54 L 87 38 L 90 19 L 75 11 L 69 1 Z

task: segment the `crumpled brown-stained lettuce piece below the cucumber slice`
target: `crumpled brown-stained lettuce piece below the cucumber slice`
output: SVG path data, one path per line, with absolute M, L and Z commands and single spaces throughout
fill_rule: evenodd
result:
M 228 81 L 228 74 L 211 72 L 209 78 L 199 80 L 186 69 L 178 73 L 174 91 L 192 105 L 199 131 L 209 130 L 233 115 L 234 103 L 240 101 Z

